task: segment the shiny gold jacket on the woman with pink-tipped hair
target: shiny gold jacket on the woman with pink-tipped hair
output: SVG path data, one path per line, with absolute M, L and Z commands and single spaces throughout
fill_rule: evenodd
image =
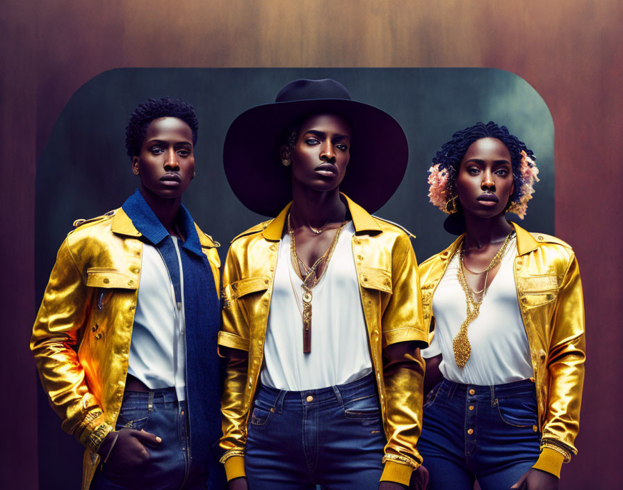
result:
M 512 226 L 517 232 L 513 272 L 534 371 L 541 448 L 556 450 L 568 461 L 577 453 L 573 444 L 584 380 L 584 303 L 578 262 L 562 240 Z M 463 236 L 420 265 L 426 326 L 431 322 L 432 296 Z

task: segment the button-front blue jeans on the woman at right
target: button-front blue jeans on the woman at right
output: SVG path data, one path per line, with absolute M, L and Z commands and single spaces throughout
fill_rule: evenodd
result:
M 428 490 L 507 490 L 535 464 L 541 434 L 534 383 L 496 386 L 444 379 L 424 405 L 417 447 Z

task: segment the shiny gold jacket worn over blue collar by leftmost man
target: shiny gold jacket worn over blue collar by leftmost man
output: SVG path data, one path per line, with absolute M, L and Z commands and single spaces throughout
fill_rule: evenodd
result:
M 31 350 L 61 427 L 86 445 L 82 488 L 115 427 L 128 370 L 143 242 L 120 208 L 74 222 L 56 256 Z M 216 242 L 195 224 L 218 290 Z

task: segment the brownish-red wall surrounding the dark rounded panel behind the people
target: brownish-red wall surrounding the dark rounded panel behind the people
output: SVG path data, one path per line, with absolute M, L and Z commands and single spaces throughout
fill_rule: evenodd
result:
M 542 95 L 556 129 L 556 235 L 578 255 L 588 326 L 580 453 L 560 488 L 621 486 L 623 3 L 27 0 L 2 10 L 1 488 L 36 489 L 38 451 L 54 450 L 37 448 L 27 345 L 36 157 L 60 110 L 111 68 L 284 66 L 501 68 Z

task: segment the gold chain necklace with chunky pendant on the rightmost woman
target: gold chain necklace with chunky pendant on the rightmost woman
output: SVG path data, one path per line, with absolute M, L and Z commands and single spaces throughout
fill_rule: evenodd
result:
M 471 324 L 471 322 L 474 322 L 476 317 L 478 317 L 478 313 L 480 313 L 480 305 L 483 303 L 483 299 L 485 299 L 485 294 L 487 294 L 487 279 L 489 278 L 489 271 L 496 267 L 496 265 L 499 264 L 502 260 L 506 248 L 508 248 L 508 244 L 510 244 L 510 239 L 512 238 L 512 235 L 514 235 L 513 231 L 508 234 L 508 237 L 506 237 L 506 239 L 504 240 L 504 243 L 500 247 L 499 251 L 497 251 L 491 262 L 489 262 L 487 269 L 478 273 L 470 271 L 471 274 L 474 275 L 485 274 L 485 287 L 483 287 L 483 289 L 480 291 L 472 292 L 467 285 L 467 280 L 465 280 L 465 276 L 463 274 L 463 267 L 465 267 L 463 261 L 465 242 L 463 242 L 463 244 L 459 248 L 459 270 L 457 276 L 462 290 L 465 293 L 465 299 L 467 301 L 467 317 L 465 318 L 465 321 L 461 324 L 459 333 L 457 333 L 456 337 L 452 341 L 452 348 L 454 350 L 454 360 L 456 361 L 456 365 L 458 365 L 458 367 L 460 367 L 461 369 L 465 367 L 465 365 L 467 364 L 467 360 L 469 359 L 469 355 L 471 354 L 471 345 L 469 343 L 469 339 L 467 338 L 467 327 L 469 326 L 469 324 Z M 481 293 L 483 294 L 483 296 L 480 298 L 480 301 L 476 301 L 473 294 Z

